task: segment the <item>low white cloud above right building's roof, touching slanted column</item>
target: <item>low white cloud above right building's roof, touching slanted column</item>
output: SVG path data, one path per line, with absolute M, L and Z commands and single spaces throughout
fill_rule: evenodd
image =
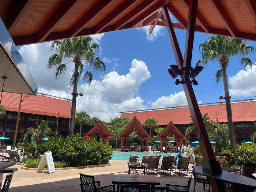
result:
M 200 102 L 200 101 L 199 101 Z M 152 102 L 153 108 L 165 108 L 172 106 L 188 105 L 184 91 L 170 94 L 170 96 L 159 97 L 156 101 Z

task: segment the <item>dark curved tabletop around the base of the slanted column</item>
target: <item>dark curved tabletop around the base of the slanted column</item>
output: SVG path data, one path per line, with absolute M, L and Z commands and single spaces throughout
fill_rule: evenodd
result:
M 248 185 L 248 186 L 255 187 L 255 189 L 256 189 L 256 182 L 254 179 L 242 176 L 240 174 L 230 173 L 225 170 L 222 170 L 221 174 L 211 173 L 211 172 L 204 171 L 203 167 L 201 167 L 201 166 L 195 166 L 195 169 L 199 173 L 202 173 L 203 175 L 205 175 L 207 177 L 214 178 L 215 180 L 230 183 L 231 184 L 230 188 L 234 189 L 234 191 L 240 191 L 240 185 Z

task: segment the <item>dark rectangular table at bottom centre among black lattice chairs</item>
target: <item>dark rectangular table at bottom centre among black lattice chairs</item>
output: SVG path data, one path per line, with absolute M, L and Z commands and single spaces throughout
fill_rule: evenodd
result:
M 117 174 L 116 178 L 112 181 L 112 184 L 117 184 L 117 192 L 120 192 L 121 184 L 130 185 L 140 185 L 140 184 L 150 184 L 151 187 L 155 185 L 160 185 L 156 175 L 127 175 L 127 174 Z

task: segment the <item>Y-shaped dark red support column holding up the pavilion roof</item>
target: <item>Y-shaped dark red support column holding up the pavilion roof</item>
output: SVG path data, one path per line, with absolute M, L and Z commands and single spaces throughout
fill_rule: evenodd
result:
M 176 59 L 176 63 L 178 65 L 178 68 L 182 69 L 181 79 L 184 80 L 184 84 L 182 85 L 187 98 L 193 124 L 195 126 L 197 139 L 199 141 L 199 145 L 202 150 L 202 155 L 204 159 L 208 160 L 208 162 L 204 161 L 204 163 L 208 164 L 208 167 L 211 167 L 212 172 L 222 173 L 219 163 L 216 162 L 216 159 L 211 147 L 211 143 L 203 123 L 203 118 L 196 101 L 195 93 L 193 91 L 192 84 L 189 79 L 189 74 L 191 70 L 193 41 L 194 41 L 194 34 L 195 34 L 197 3 L 198 3 L 198 0 L 189 1 L 188 25 L 187 25 L 184 60 L 183 60 L 183 57 L 180 51 L 180 46 L 178 45 L 177 37 L 174 32 L 172 21 L 170 19 L 166 6 L 163 7 L 163 16 L 165 18 L 165 23 L 169 33 L 170 41 L 172 43 L 172 48 L 173 48 L 174 56 Z M 177 143 L 176 143 L 176 146 L 178 146 Z M 204 163 L 203 163 L 203 167 L 204 167 Z M 210 179 L 210 182 L 211 182 L 212 191 L 214 192 L 225 191 L 223 182 L 218 182 L 217 180 L 214 180 L 214 179 Z

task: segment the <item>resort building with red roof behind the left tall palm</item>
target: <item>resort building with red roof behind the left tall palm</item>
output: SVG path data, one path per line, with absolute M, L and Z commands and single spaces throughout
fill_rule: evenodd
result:
M 1 92 L 0 92 L 1 93 Z M 25 95 L 24 95 L 25 96 Z M 6 116 L 0 120 L 0 136 L 10 138 L 4 140 L 5 144 L 11 145 L 14 139 L 16 120 L 19 110 L 20 94 L 3 92 L 1 104 L 6 110 Z M 20 108 L 19 126 L 17 134 L 17 142 L 24 138 L 27 128 L 36 128 L 42 120 L 48 122 L 48 127 L 52 131 L 56 131 L 57 117 L 59 113 L 59 121 L 57 135 L 61 137 L 68 136 L 69 117 L 71 113 L 72 100 L 54 97 L 37 93 L 37 95 L 29 95 L 26 97 Z M 82 126 L 82 135 L 90 129 L 86 125 Z M 75 133 L 79 133 L 80 125 L 75 125 Z

